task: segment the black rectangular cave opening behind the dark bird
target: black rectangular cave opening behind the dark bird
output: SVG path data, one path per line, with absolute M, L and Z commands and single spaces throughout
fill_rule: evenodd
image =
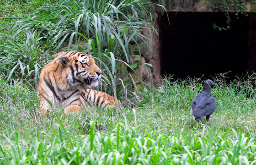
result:
M 220 31 L 212 25 L 226 27 L 225 13 L 167 14 L 159 19 L 162 75 L 211 79 L 229 72 L 230 80 L 247 75 L 249 17 L 231 14 L 232 29 Z

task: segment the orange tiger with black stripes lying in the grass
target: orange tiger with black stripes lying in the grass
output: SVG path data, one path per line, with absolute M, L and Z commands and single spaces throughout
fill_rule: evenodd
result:
M 36 90 L 40 113 L 51 112 L 51 106 L 60 106 L 64 113 L 78 113 L 88 105 L 93 107 L 118 106 L 118 100 L 105 92 L 93 90 L 102 76 L 92 55 L 68 51 L 45 65 Z

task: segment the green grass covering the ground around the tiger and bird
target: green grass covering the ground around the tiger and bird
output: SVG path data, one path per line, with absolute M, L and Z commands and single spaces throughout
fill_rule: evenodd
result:
M 0 81 L 0 163 L 4 164 L 254 164 L 254 80 L 218 84 L 217 108 L 196 123 L 191 101 L 199 79 L 165 79 L 143 91 L 134 109 L 83 109 L 41 116 L 35 91 Z

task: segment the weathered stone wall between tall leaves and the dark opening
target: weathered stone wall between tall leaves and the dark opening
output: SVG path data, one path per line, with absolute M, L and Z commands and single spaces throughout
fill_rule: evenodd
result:
M 152 8 L 151 12 L 153 13 L 153 19 L 156 20 L 154 23 L 151 24 L 151 26 L 153 26 L 157 30 L 153 30 L 150 25 L 147 24 L 141 25 L 145 28 L 137 30 L 137 32 L 140 32 L 143 36 L 145 36 L 145 40 L 150 47 L 148 47 L 146 43 L 142 42 L 138 38 L 134 39 L 134 41 L 131 40 L 129 43 L 131 53 L 130 62 L 131 64 L 138 63 L 137 67 L 134 68 L 134 72 L 131 72 L 131 70 L 125 64 L 119 62 L 119 65 L 121 65 L 122 68 L 130 70 L 131 76 L 134 78 L 135 85 L 138 89 L 143 89 L 145 86 L 151 87 L 151 80 L 153 85 L 161 83 L 162 78 L 161 64 L 159 58 L 161 45 L 158 35 L 158 14 L 154 12 L 154 8 Z M 151 64 L 152 67 L 142 63 Z M 124 75 L 124 72 L 122 70 L 119 70 L 117 76 L 120 77 L 122 75 Z M 126 80 L 128 78 L 129 75 L 123 78 L 123 80 Z

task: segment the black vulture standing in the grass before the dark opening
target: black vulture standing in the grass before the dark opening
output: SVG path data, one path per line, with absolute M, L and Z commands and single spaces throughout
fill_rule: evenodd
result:
M 217 85 L 212 80 L 206 80 L 202 86 L 202 94 L 195 96 L 192 101 L 193 116 L 196 122 L 204 123 L 204 117 L 208 121 L 216 109 L 214 97 L 211 97 L 211 86 Z

